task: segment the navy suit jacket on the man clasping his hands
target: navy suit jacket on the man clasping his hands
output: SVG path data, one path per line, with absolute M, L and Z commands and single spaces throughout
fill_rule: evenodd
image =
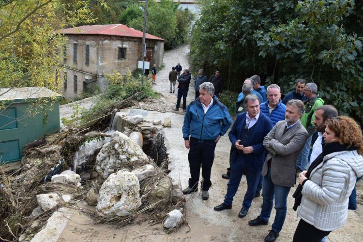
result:
M 250 154 L 237 154 L 234 144 L 242 136 L 242 131 L 246 124 L 246 114 L 247 112 L 237 115 L 236 121 L 228 134 L 233 147 L 231 162 L 244 162 L 246 168 L 251 170 L 262 169 L 266 157 L 266 150 L 262 143 L 265 136 L 272 130 L 272 124 L 270 119 L 260 112 L 259 118 L 254 125 L 254 132 L 248 137 L 248 145 L 246 146 L 252 146 L 253 152 Z

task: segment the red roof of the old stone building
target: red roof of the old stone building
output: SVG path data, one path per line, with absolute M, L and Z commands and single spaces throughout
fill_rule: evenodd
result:
M 101 34 L 113 36 L 125 36 L 142 38 L 142 31 L 134 30 L 123 24 L 106 24 L 106 25 L 83 25 L 75 28 L 59 30 L 62 34 Z M 163 40 L 157 36 L 146 34 L 146 39 Z

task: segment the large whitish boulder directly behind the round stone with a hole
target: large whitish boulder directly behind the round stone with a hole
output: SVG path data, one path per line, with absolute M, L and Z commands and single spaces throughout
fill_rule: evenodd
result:
M 110 142 L 106 143 L 97 155 L 96 170 L 106 179 L 125 165 L 136 162 L 148 164 L 150 160 L 141 147 L 128 136 L 115 131 Z

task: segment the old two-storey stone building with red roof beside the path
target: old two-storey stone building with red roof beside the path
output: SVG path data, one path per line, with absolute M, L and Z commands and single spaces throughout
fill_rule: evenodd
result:
M 108 86 L 106 75 L 113 71 L 125 74 L 141 61 L 142 32 L 122 24 L 88 25 L 60 30 L 67 37 L 64 46 L 63 95 L 72 98 L 87 87 Z M 146 34 L 146 57 L 150 66 L 163 63 L 164 40 Z

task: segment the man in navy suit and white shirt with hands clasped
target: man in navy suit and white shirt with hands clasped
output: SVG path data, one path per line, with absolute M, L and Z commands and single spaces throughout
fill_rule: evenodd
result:
M 258 180 L 265 160 L 263 139 L 272 129 L 270 119 L 259 111 L 259 99 L 250 94 L 244 99 L 247 112 L 237 116 L 231 131 L 229 140 L 233 151 L 231 157 L 231 175 L 227 184 L 227 194 L 221 205 L 214 210 L 221 211 L 232 208 L 233 197 L 240 185 L 242 174 L 245 172 L 247 191 L 244 195 L 243 205 L 238 216 L 243 218 L 255 197 Z

